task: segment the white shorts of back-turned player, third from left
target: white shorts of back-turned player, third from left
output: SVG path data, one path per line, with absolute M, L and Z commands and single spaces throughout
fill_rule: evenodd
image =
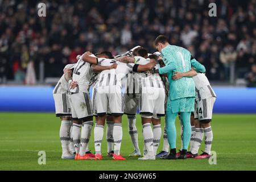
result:
M 123 97 L 120 86 L 98 86 L 96 88 L 96 111 L 97 115 L 123 114 Z

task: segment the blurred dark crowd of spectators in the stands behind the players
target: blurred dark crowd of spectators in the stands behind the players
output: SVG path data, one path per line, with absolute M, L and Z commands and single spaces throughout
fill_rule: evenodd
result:
M 37 5 L 46 3 L 46 17 Z M 217 5 L 210 17 L 209 3 Z M 249 79 L 256 63 L 256 0 L 0 0 L 0 77 L 22 80 L 28 63 L 44 62 L 45 77 L 59 77 L 84 51 L 117 55 L 140 45 L 155 52 L 159 34 L 188 48 L 209 80 Z

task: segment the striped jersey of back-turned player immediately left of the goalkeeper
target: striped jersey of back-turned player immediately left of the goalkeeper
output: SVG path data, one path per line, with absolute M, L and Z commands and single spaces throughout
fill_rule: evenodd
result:
M 136 64 L 145 65 L 147 63 L 150 63 L 149 59 L 145 59 L 144 57 L 135 56 Z M 155 65 L 155 69 L 160 68 L 159 64 Z M 156 88 L 164 88 L 163 81 L 161 80 L 161 77 L 159 74 L 146 74 L 146 73 L 140 73 L 141 81 L 139 81 L 139 84 L 143 87 L 156 87 Z

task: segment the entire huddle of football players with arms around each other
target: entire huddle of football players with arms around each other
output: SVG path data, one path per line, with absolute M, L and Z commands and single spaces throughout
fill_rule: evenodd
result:
M 216 94 L 204 74 L 205 68 L 187 49 L 171 46 L 166 36 L 158 36 L 155 47 L 158 49 L 155 53 L 137 46 L 116 56 L 108 51 L 94 54 L 88 51 L 77 56 L 76 64 L 66 65 L 53 89 L 56 116 L 61 119 L 62 159 L 102 160 L 106 123 L 107 155 L 113 160 L 126 160 L 121 155 L 123 114 L 127 115 L 134 146 L 129 156 L 138 156 L 138 160 L 210 157 L 213 139 L 210 121 Z M 143 154 L 135 125 L 138 110 Z M 181 122 L 180 152 L 176 152 L 177 114 Z M 162 137 L 161 117 L 165 117 L 164 144 L 157 154 Z M 92 129 L 94 154 L 88 146 Z M 204 134 L 205 150 L 197 155 Z

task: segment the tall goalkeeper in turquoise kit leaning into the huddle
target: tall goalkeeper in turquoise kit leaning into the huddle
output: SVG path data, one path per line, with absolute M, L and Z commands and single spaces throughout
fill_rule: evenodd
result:
M 155 39 L 155 47 L 161 53 L 165 67 L 155 70 L 155 73 L 167 73 L 170 83 L 170 92 L 167 101 L 166 111 L 166 131 L 168 143 L 170 144 L 170 154 L 162 159 L 177 159 L 176 156 L 176 127 L 175 119 L 177 114 L 181 114 L 183 124 L 183 150 L 179 159 L 186 159 L 189 141 L 191 138 L 191 112 L 195 109 L 195 82 L 192 76 L 182 77 L 179 80 L 172 80 L 174 72 L 189 72 L 191 67 L 197 72 L 205 72 L 204 65 L 201 65 L 191 56 L 191 53 L 182 47 L 172 46 L 164 35 L 159 35 Z

